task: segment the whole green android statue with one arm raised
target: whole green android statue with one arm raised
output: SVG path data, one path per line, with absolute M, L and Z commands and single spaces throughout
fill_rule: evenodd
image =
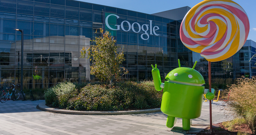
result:
M 152 75 L 155 89 L 160 91 L 163 88 L 161 111 L 168 115 L 166 126 L 171 128 L 176 123 L 177 117 L 182 118 L 183 130 L 189 130 L 192 125 L 192 119 L 201 115 L 203 94 L 206 94 L 208 100 L 214 99 L 215 90 L 204 89 L 205 84 L 202 74 L 195 70 L 197 61 L 193 68 L 181 67 L 180 59 L 176 69 L 167 74 L 165 83 L 161 82 L 160 72 L 152 66 Z

